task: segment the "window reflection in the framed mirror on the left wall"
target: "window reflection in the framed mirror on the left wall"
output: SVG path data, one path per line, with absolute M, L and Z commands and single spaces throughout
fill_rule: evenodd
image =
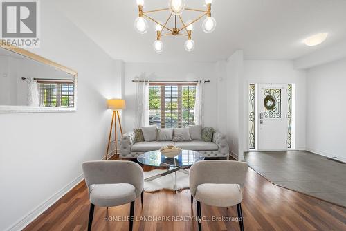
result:
M 41 107 L 74 107 L 73 82 L 38 82 Z

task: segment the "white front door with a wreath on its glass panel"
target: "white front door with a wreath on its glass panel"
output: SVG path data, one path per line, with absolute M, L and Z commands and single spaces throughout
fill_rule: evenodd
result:
M 260 84 L 259 149 L 287 149 L 287 84 Z

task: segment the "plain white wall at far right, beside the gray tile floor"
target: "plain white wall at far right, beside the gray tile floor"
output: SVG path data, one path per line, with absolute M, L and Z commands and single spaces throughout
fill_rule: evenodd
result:
M 346 59 L 307 71 L 307 150 L 346 161 Z

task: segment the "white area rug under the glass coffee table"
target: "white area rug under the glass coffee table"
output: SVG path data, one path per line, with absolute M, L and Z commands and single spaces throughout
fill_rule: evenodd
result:
M 155 176 L 166 172 L 165 170 L 155 169 L 149 172 L 144 172 L 144 178 Z M 156 192 L 158 190 L 174 190 L 175 183 L 175 174 L 168 174 L 162 176 L 153 181 L 144 182 L 144 191 L 145 192 Z M 184 174 L 183 172 L 176 172 L 176 189 L 183 190 L 189 188 L 189 175 Z

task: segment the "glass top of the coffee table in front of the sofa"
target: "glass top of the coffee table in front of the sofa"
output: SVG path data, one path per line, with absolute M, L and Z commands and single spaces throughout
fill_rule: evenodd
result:
M 190 166 L 204 160 L 204 156 L 197 151 L 183 150 L 179 156 L 167 158 L 160 151 L 148 151 L 137 157 L 139 163 L 155 167 Z

